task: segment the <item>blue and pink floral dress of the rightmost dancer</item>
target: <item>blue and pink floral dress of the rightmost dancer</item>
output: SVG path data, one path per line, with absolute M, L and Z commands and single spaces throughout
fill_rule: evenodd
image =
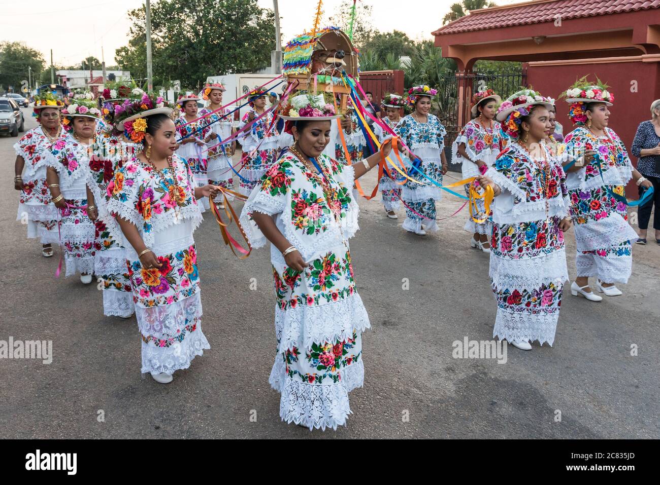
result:
M 627 283 L 632 273 L 632 244 L 638 235 L 628 223 L 626 204 L 617 202 L 610 190 L 624 195 L 632 178 L 632 163 L 623 142 L 610 128 L 597 138 L 578 127 L 564 138 L 566 156 L 578 157 L 594 150 L 593 160 L 566 177 L 571 198 L 571 215 L 578 246 L 578 276 L 597 276 L 604 283 Z

